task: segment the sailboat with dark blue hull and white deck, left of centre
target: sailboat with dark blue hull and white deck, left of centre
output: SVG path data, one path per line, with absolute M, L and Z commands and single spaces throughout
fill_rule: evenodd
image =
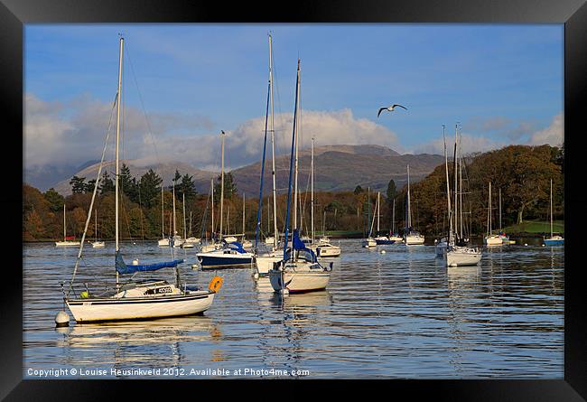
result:
M 202 248 L 202 251 L 196 254 L 198 261 L 200 262 L 201 269 L 220 269 L 220 268 L 239 268 L 251 266 L 253 254 L 245 250 L 237 238 L 235 241 L 228 242 L 227 238 L 222 238 L 222 220 L 223 220 L 223 208 L 224 208 L 224 131 L 221 132 L 221 160 L 222 165 L 220 167 L 220 230 L 219 230 L 219 242 L 222 244 L 222 248 L 218 248 L 218 243 L 215 242 L 214 249 L 208 250 L 208 248 Z

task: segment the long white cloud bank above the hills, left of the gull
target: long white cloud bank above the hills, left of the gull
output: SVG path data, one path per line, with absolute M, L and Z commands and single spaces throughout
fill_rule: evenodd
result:
M 27 94 L 24 121 L 25 167 L 83 164 L 99 159 L 111 112 L 112 104 L 87 96 L 63 105 Z M 200 168 L 216 166 L 215 170 L 219 169 L 219 129 L 214 129 L 209 118 L 151 113 L 151 136 L 142 111 L 127 107 L 125 112 L 122 158 L 140 159 L 144 166 L 178 161 Z M 275 115 L 277 154 L 289 152 L 292 128 L 293 113 Z M 233 130 L 225 128 L 225 167 L 228 170 L 260 160 L 264 130 L 265 117 L 251 118 Z M 394 149 L 399 146 L 395 133 L 371 120 L 354 117 L 349 109 L 303 110 L 300 147 L 309 147 L 312 136 L 315 136 L 317 146 L 378 144 Z M 110 138 L 112 142 L 108 144 L 107 159 L 111 160 L 114 157 L 114 135 Z M 267 152 L 270 153 L 269 140 L 267 145 Z

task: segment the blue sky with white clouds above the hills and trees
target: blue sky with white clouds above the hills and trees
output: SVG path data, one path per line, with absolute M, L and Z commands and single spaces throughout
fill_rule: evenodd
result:
M 228 169 L 260 160 L 268 33 L 278 154 L 291 144 L 298 58 L 302 146 L 314 136 L 442 154 L 443 125 L 452 138 L 457 123 L 465 153 L 563 143 L 563 24 L 27 24 L 23 171 L 100 159 L 119 33 L 122 155 L 145 164 L 218 170 L 220 130 Z M 407 110 L 377 117 L 395 103 Z

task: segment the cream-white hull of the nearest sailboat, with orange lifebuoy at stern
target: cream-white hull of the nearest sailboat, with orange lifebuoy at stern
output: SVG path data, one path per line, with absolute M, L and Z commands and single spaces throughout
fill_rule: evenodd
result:
M 77 323 L 148 320 L 203 313 L 210 308 L 214 294 L 66 299 L 65 303 Z

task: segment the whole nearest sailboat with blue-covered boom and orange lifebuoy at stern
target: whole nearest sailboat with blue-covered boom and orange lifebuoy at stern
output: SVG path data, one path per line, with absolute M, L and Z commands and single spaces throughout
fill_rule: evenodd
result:
M 169 262 L 138 265 L 138 263 L 126 266 L 122 253 L 119 247 L 119 230 L 118 230 L 118 215 L 119 215 L 119 158 L 118 158 L 118 143 L 120 137 L 120 96 L 121 94 L 121 80 L 122 80 L 122 60 L 123 60 L 124 38 L 120 38 L 120 53 L 118 64 L 118 90 L 116 102 L 116 285 L 112 289 L 106 289 L 99 285 L 97 289 L 90 290 L 86 285 L 85 290 L 79 292 L 74 287 L 75 276 L 77 273 L 79 260 L 83 250 L 83 237 L 86 235 L 89 224 L 86 220 L 86 229 L 84 230 L 82 243 L 79 247 L 79 254 L 73 270 L 73 275 L 70 280 L 70 286 L 67 293 L 64 291 L 64 302 L 67 304 L 73 318 L 78 323 L 93 323 L 105 321 L 121 321 L 121 320 L 135 320 L 135 319 L 154 319 L 161 317 L 191 315 L 196 313 L 203 313 L 210 308 L 214 295 L 218 292 L 222 278 L 216 276 L 210 282 L 209 289 L 199 290 L 197 288 L 181 284 L 181 276 L 178 265 L 183 262 L 182 259 L 175 259 Z M 106 146 L 105 146 L 106 149 Z M 104 162 L 104 154 L 102 155 L 102 163 Z M 98 178 L 101 171 L 101 166 L 98 169 Z M 90 202 L 89 210 L 92 210 L 96 192 L 98 189 L 98 180 L 94 188 L 92 200 Z M 120 276 L 136 274 L 138 272 L 152 272 L 164 267 L 175 268 L 175 284 L 170 284 L 164 280 L 144 280 L 126 283 L 121 282 Z M 134 275 L 133 275 L 134 277 Z M 96 293 L 94 293 L 96 292 Z M 61 314 L 61 312 L 60 312 Z M 60 318 L 58 314 L 58 318 Z M 61 319 L 60 319 L 61 321 Z M 57 322 L 57 319 L 56 319 Z

